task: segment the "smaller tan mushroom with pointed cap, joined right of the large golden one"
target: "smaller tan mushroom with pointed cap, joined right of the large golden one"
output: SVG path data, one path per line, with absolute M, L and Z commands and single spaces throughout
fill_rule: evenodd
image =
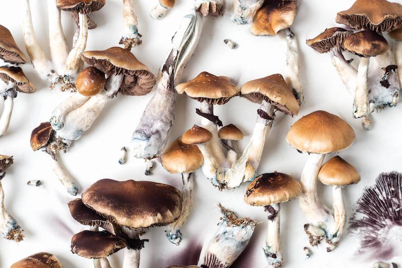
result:
M 342 188 L 346 185 L 356 184 L 360 181 L 360 175 L 356 168 L 336 156 L 325 163 L 318 179 L 325 185 L 332 186 L 332 205 L 334 209 L 334 224 L 329 226 L 326 232 L 327 251 L 330 252 L 336 248 L 341 240 L 346 224 L 346 209 L 343 202 Z

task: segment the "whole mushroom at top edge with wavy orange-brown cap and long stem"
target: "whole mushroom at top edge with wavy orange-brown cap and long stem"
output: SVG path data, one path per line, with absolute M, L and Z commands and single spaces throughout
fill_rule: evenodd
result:
M 298 45 L 290 30 L 297 12 L 297 0 L 265 1 L 254 16 L 251 33 L 256 36 L 278 35 L 287 44 L 285 81 L 299 103 L 304 101 L 303 85 L 300 80 Z

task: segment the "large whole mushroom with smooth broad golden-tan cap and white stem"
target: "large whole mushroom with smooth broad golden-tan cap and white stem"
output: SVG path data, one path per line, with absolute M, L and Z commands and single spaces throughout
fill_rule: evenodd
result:
M 305 229 L 312 245 L 324 238 L 334 224 L 330 210 L 320 202 L 317 195 L 317 175 L 325 155 L 343 151 L 355 140 L 352 127 L 340 117 L 326 111 L 315 111 L 298 119 L 287 133 L 286 142 L 292 148 L 309 154 L 300 178 L 303 194 L 299 197 L 299 205 L 311 223 L 306 224 Z M 313 239 L 311 235 L 317 237 Z

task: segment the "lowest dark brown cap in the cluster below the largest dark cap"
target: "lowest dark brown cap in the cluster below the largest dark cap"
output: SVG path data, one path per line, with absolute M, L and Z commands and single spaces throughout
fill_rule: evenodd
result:
M 71 252 L 84 258 L 106 258 L 127 245 L 126 239 L 106 231 L 82 231 L 73 235 Z

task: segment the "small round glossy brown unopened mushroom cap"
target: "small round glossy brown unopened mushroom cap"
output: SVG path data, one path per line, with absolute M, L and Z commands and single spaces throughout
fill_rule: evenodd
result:
M 83 69 L 79 72 L 75 80 L 75 86 L 78 92 L 87 97 L 100 93 L 100 91 L 104 89 L 105 84 L 105 74 L 95 67 L 87 67 Z

